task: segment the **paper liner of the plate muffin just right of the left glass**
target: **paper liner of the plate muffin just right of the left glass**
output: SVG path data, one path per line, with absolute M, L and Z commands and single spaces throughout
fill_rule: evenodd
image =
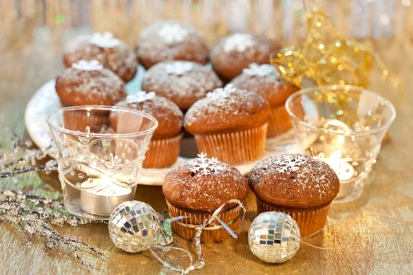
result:
M 151 140 L 145 154 L 143 168 L 165 168 L 176 162 L 180 151 L 182 135 L 166 140 Z

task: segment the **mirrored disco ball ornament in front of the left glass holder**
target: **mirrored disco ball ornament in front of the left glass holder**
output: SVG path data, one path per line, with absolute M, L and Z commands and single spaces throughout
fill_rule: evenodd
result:
M 126 252 L 142 252 L 154 243 L 160 231 L 158 214 L 142 201 L 125 201 L 109 218 L 109 235 Z

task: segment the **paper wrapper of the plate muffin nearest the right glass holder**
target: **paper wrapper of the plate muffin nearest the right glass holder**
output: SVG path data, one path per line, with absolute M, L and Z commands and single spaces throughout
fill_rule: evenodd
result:
M 285 105 L 272 106 L 270 119 L 268 120 L 267 137 L 281 135 L 291 128 L 293 128 L 293 123 Z

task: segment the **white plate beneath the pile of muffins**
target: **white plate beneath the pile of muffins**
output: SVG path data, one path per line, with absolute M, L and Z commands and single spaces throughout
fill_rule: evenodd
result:
M 134 78 L 130 83 L 127 83 L 127 91 L 129 94 L 134 94 L 136 91 L 140 91 L 140 83 L 142 81 L 142 75 L 144 74 L 143 71 L 144 69 L 140 67 L 138 69 L 138 77 Z M 59 107 L 59 97 L 56 95 L 56 90 L 54 89 L 54 80 L 50 80 L 37 90 L 26 107 L 25 126 L 34 144 L 39 146 L 39 148 L 47 148 L 52 144 L 52 137 L 45 118 L 48 113 L 59 109 Z M 182 142 L 184 145 L 182 145 L 181 148 L 195 147 L 193 145 L 193 138 L 184 138 Z M 191 143 L 192 146 L 187 145 Z M 283 153 L 284 151 L 290 151 L 290 144 L 293 144 L 293 131 L 289 131 L 279 137 L 268 139 L 265 157 Z M 195 157 L 196 152 L 185 152 L 184 155 Z M 153 186 L 162 185 L 165 175 L 167 175 L 171 168 L 176 167 L 185 161 L 187 161 L 186 157 L 179 157 L 177 162 L 169 168 L 142 169 L 140 184 Z M 258 161 L 259 160 L 235 167 L 240 170 L 243 175 L 248 175 L 251 168 L 253 168 Z

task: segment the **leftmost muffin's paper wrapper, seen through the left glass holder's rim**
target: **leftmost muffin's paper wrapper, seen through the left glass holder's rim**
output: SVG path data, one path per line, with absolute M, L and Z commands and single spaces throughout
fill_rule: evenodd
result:
M 61 107 L 70 106 L 65 106 L 65 104 L 61 103 Z M 99 133 L 102 126 L 109 125 L 109 112 L 91 112 L 89 116 L 85 111 L 65 112 L 63 113 L 63 122 L 65 129 L 84 132 L 86 127 L 89 126 L 90 132 Z

